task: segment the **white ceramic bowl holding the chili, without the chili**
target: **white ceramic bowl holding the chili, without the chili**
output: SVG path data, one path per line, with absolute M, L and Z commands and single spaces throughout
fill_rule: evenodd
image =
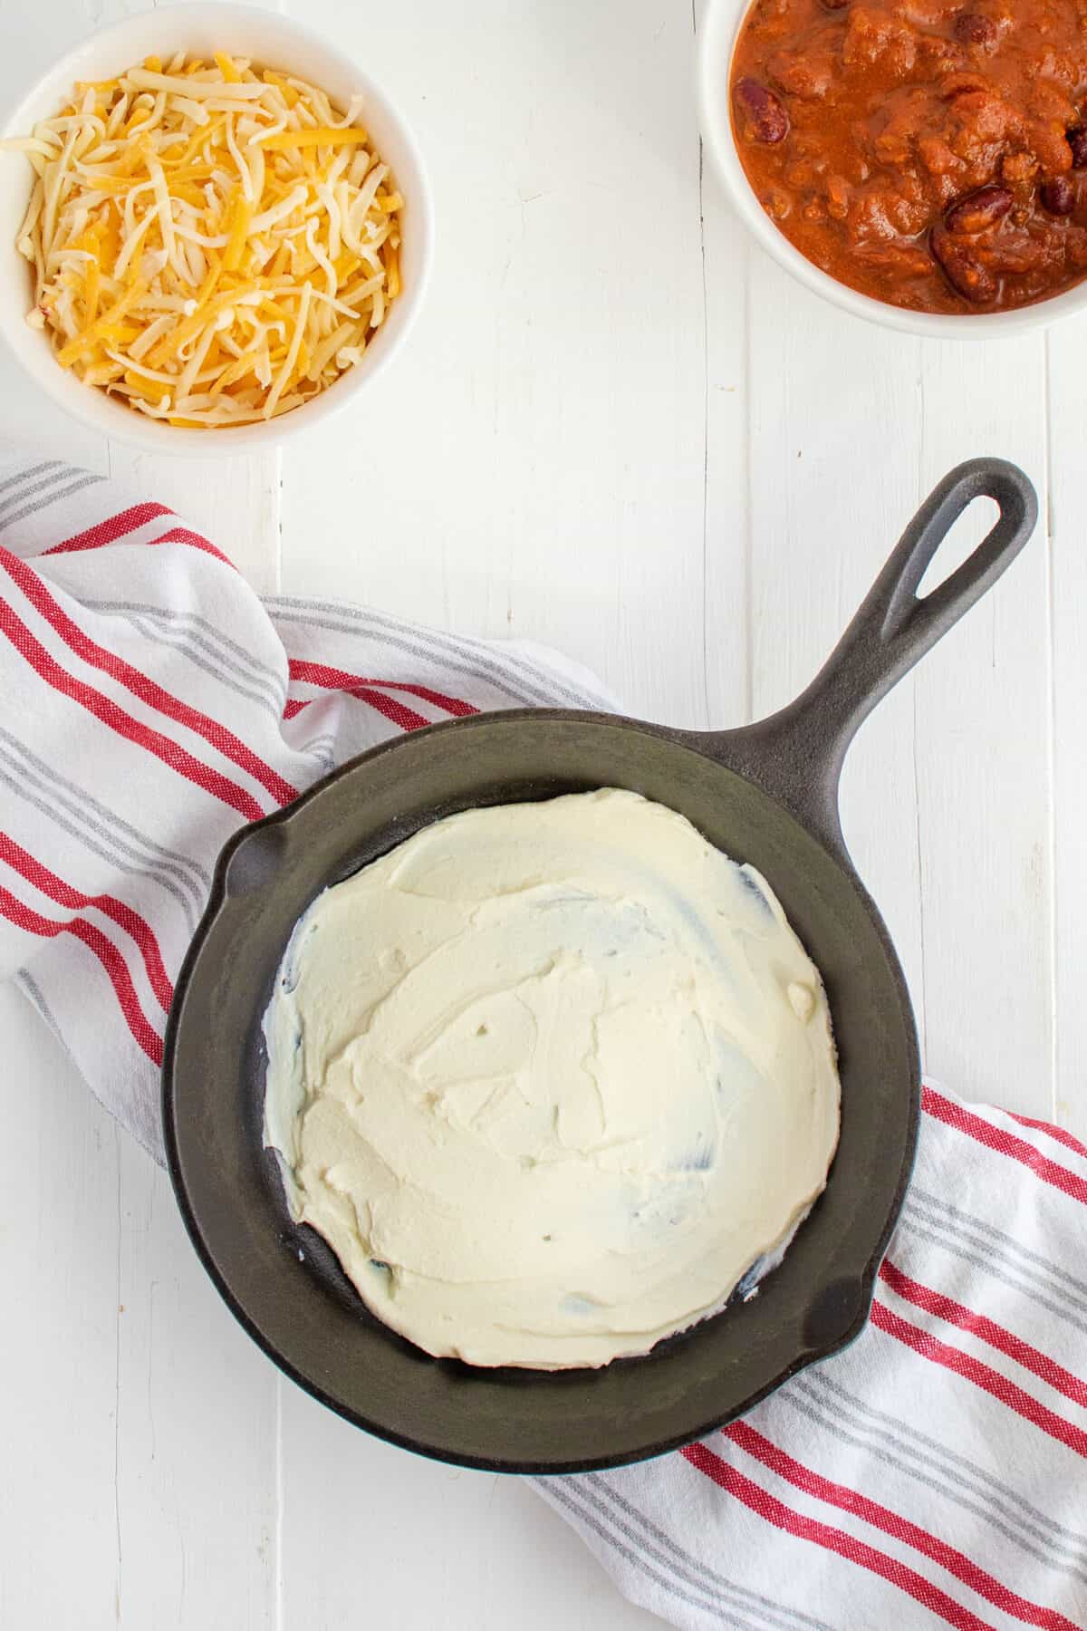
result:
M 821 295 L 833 305 L 862 316 L 883 328 L 898 328 L 908 334 L 926 334 L 929 339 L 996 339 L 1022 334 L 1025 329 L 1045 328 L 1059 316 L 1087 310 L 1087 281 L 1036 305 L 1019 307 L 1014 312 L 978 312 L 952 316 L 932 312 L 908 312 L 904 307 L 872 300 L 870 295 L 847 289 L 836 277 L 813 266 L 800 250 L 779 232 L 759 204 L 751 183 L 743 173 L 732 134 L 730 91 L 732 54 L 748 11 L 750 0 L 707 0 L 698 49 L 698 108 L 702 142 L 714 170 L 724 183 L 732 206 L 748 232 L 763 245 L 779 266 L 784 266 L 805 289 Z

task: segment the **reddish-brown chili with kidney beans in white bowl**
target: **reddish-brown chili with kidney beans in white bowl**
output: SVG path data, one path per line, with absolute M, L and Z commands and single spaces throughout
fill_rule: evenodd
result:
M 810 261 L 916 312 L 1087 277 L 1087 0 L 755 0 L 737 148 Z

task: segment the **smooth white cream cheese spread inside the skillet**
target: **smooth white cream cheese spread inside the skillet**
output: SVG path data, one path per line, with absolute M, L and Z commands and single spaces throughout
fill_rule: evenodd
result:
M 636 793 L 451 816 L 328 889 L 264 1031 L 293 1217 L 473 1365 L 606 1365 L 717 1311 L 838 1142 L 774 894 Z

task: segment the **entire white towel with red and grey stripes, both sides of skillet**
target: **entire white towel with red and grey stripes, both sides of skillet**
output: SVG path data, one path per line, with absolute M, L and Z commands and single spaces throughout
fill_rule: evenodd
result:
M 531 646 L 261 602 L 165 506 L 0 463 L 0 975 L 161 1160 L 171 982 L 225 838 L 435 719 L 611 706 Z M 924 1091 L 872 1321 L 743 1421 L 536 1479 L 676 1626 L 1087 1626 L 1087 1150 Z

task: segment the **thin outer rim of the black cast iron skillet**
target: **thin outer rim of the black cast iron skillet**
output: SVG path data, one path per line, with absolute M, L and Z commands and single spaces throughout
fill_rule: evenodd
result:
M 869 913 L 877 939 L 882 943 L 888 969 L 893 977 L 900 1010 L 903 1013 L 903 1018 L 908 1021 L 906 1032 L 908 1032 L 908 1050 L 909 1050 L 913 1086 L 909 1090 L 909 1106 L 908 1106 L 904 1142 L 903 1142 L 903 1163 L 898 1173 L 895 1192 L 888 1207 L 883 1228 L 880 1230 L 872 1254 L 869 1256 L 865 1267 L 856 1282 L 860 1290 L 860 1300 L 857 1313 L 851 1321 L 851 1324 L 839 1336 L 834 1336 L 826 1342 L 816 1344 L 802 1352 L 794 1364 L 787 1365 L 782 1372 L 779 1372 L 769 1383 L 766 1383 L 766 1386 L 748 1395 L 748 1398 L 738 1409 L 725 1411 L 724 1416 L 714 1416 L 711 1421 L 696 1425 L 691 1430 L 684 1430 L 683 1434 L 671 1435 L 662 1440 L 654 1440 L 647 1445 L 640 1445 L 634 1450 L 626 1450 L 618 1455 L 598 1455 L 580 1460 L 541 1461 L 541 1460 L 515 1460 L 515 1458 L 474 1456 L 469 1453 L 451 1453 L 447 1448 L 427 1443 L 424 1439 L 414 1439 L 407 1434 L 399 1434 L 394 1429 L 373 1422 L 360 1411 L 355 1411 L 352 1406 L 329 1395 L 319 1383 L 313 1381 L 301 1370 L 298 1370 L 279 1350 L 275 1342 L 264 1334 L 264 1331 L 249 1316 L 241 1300 L 235 1295 L 225 1275 L 220 1272 L 218 1264 L 212 1254 L 212 1249 L 204 1240 L 204 1235 L 200 1231 L 196 1210 L 189 1200 L 183 1171 L 183 1156 L 178 1142 L 178 1125 L 174 1117 L 174 1098 L 178 1088 L 174 1075 L 174 1057 L 178 1045 L 178 1032 L 181 1029 L 184 1000 L 189 992 L 196 962 L 200 956 L 207 935 L 228 897 L 225 881 L 230 861 L 233 860 L 235 853 L 254 832 L 264 832 L 272 827 L 285 825 L 295 816 L 298 816 L 298 812 L 306 804 L 313 802 L 326 788 L 332 786 L 337 781 L 345 780 L 349 775 L 357 773 L 363 765 L 370 765 L 376 758 L 389 752 L 394 752 L 399 747 L 404 747 L 407 742 L 414 744 L 438 732 L 450 732 L 450 731 L 466 732 L 469 729 L 479 729 L 499 723 L 515 723 L 515 724 L 557 723 L 557 724 L 577 724 L 590 727 L 611 726 L 623 731 L 631 731 L 639 736 L 660 737 L 680 747 L 689 749 L 701 758 L 706 758 L 709 763 L 722 770 L 727 770 L 732 775 L 740 776 L 742 781 L 746 781 L 751 786 L 755 786 L 764 798 L 769 798 L 774 804 L 777 804 L 786 816 L 795 820 L 797 825 L 800 825 L 815 843 L 820 845 L 820 848 L 844 874 L 846 881 L 859 895 L 860 904 Z M 251 1337 L 251 1341 L 256 1342 L 261 1352 L 272 1360 L 277 1370 L 280 1370 L 297 1386 L 300 1386 L 305 1393 L 315 1398 L 326 1409 L 332 1411 L 342 1421 L 347 1421 L 354 1427 L 360 1427 L 363 1432 L 372 1434 L 375 1439 L 381 1439 L 386 1443 L 393 1443 L 401 1450 L 409 1450 L 414 1455 L 422 1455 L 427 1460 L 442 1461 L 448 1466 L 464 1466 L 469 1468 L 471 1471 L 505 1473 L 512 1476 L 564 1476 L 570 1473 L 608 1471 L 618 1466 L 632 1466 L 637 1465 L 639 1461 L 655 1460 L 657 1456 L 667 1455 L 671 1450 L 678 1450 L 683 1445 L 694 1443 L 696 1440 L 707 1437 L 711 1432 L 715 1432 L 719 1427 L 727 1425 L 730 1421 L 737 1421 L 740 1416 L 746 1414 L 758 1403 L 761 1403 L 761 1399 L 768 1398 L 771 1393 L 776 1393 L 777 1388 L 781 1388 L 786 1381 L 792 1380 L 792 1377 L 797 1377 L 800 1372 L 807 1370 L 808 1365 L 820 1364 L 821 1360 L 830 1359 L 834 1354 L 839 1354 L 843 1349 L 849 1347 L 849 1344 L 856 1342 L 856 1339 L 867 1326 L 869 1315 L 872 1310 L 872 1298 L 875 1295 L 875 1279 L 880 1264 L 883 1261 L 883 1256 L 887 1254 L 890 1238 L 898 1225 L 898 1218 L 906 1199 L 906 1191 L 913 1178 L 913 1168 L 918 1151 L 918 1137 L 921 1129 L 921 1052 L 918 1044 L 918 1028 L 916 1028 L 913 1003 L 909 1000 L 909 988 L 906 985 L 906 977 L 903 974 L 903 967 L 898 959 L 895 943 L 891 941 L 890 931 L 887 930 L 887 925 L 883 922 L 883 917 L 880 915 L 878 907 L 875 905 L 875 900 L 872 899 L 864 882 L 860 881 L 860 876 L 857 874 L 857 869 L 854 868 L 844 843 L 838 850 L 828 846 L 825 838 L 813 830 L 813 827 L 808 824 L 803 814 L 797 812 L 789 802 L 786 802 L 774 791 L 771 791 L 769 786 L 763 785 L 756 776 L 750 775 L 748 770 L 740 770 L 738 767 L 728 763 L 727 749 L 720 755 L 709 750 L 711 742 L 725 744 L 727 739 L 733 740 L 743 737 L 755 739 L 759 724 L 761 721 L 756 723 L 755 726 L 728 732 L 683 731 L 676 726 L 663 726 L 645 719 L 634 719 L 629 714 L 613 714 L 596 709 L 575 709 L 575 708 L 500 708 L 471 714 L 469 718 L 442 719 L 435 724 L 424 726 L 417 731 L 403 732 L 394 737 L 389 737 L 386 742 L 378 742 L 375 747 L 367 749 L 362 754 L 357 754 L 352 758 L 344 760 L 342 765 L 334 767 L 328 775 L 315 781 L 310 788 L 305 789 L 305 793 L 301 793 L 290 804 L 277 811 L 271 811 L 259 820 L 248 822 L 243 827 L 240 827 L 236 832 L 230 835 L 230 838 L 220 850 L 212 873 L 212 886 L 209 891 L 204 912 L 200 913 L 200 920 L 196 926 L 192 939 L 189 941 L 184 959 L 181 962 L 181 969 L 178 970 L 178 979 L 174 983 L 174 998 L 169 1006 L 169 1014 L 166 1018 L 166 1028 L 163 1034 L 163 1063 L 160 1070 L 160 1086 L 161 1086 L 161 1117 L 163 1117 L 163 1145 L 166 1153 L 166 1169 L 169 1173 L 169 1182 L 174 1192 L 174 1199 L 178 1202 L 178 1210 L 181 1212 L 181 1218 L 186 1227 L 186 1233 L 192 1241 L 192 1246 L 204 1266 L 204 1271 L 207 1272 L 209 1279 L 212 1280 L 222 1300 L 227 1303 L 230 1313 L 235 1316 L 243 1331 Z M 755 747 L 755 750 L 758 754 L 758 745 Z M 637 1360 L 631 1360 L 631 1364 L 636 1362 Z M 523 1367 L 523 1370 L 525 1375 L 528 1377 L 535 1375 L 533 1370 L 528 1367 Z

